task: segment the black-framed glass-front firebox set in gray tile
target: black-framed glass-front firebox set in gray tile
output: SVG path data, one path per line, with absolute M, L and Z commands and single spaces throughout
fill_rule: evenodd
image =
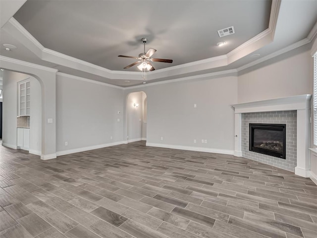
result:
M 286 124 L 249 124 L 249 150 L 286 159 Z

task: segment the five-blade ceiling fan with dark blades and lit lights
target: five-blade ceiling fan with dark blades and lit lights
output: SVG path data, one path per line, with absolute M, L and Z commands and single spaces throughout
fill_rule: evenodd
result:
M 130 68 L 138 63 L 140 63 L 140 65 L 138 65 L 138 68 L 143 71 L 145 69 L 147 69 L 148 71 L 153 71 L 155 70 L 155 68 L 153 67 L 152 62 L 164 62 L 164 63 L 172 63 L 173 60 L 166 60 L 166 59 L 156 59 L 156 58 L 151 58 L 151 56 L 153 56 L 153 54 L 157 51 L 153 48 L 150 48 L 150 50 L 148 50 L 147 53 L 145 53 L 145 43 L 147 43 L 148 39 L 147 38 L 142 38 L 141 41 L 144 44 L 144 52 L 141 53 L 139 55 L 139 57 L 133 57 L 133 56 L 118 56 L 118 57 L 125 57 L 125 58 L 132 58 L 132 59 L 136 59 L 138 61 L 129 64 L 128 66 L 125 66 L 124 69 L 126 68 Z

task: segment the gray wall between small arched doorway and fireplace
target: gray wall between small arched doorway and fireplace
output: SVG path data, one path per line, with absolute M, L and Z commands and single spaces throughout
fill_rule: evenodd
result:
M 147 143 L 233 151 L 230 105 L 237 102 L 236 76 L 148 85 L 134 91 L 140 89 L 147 95 Z

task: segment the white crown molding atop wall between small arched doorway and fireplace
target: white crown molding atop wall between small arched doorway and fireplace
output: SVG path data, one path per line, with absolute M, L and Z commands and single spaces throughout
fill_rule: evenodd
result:
M 151 83 L 151 84 L 141 84 L 141 85 L 137 85 L 137 86 L 124 87 L 123 89 L 124 90 L 129 90 L 129 89 L 135 89 L 135 88 L 144 88 L 144 87 L 149 87 L 149 86 L 154 86 L 154 85 L 159 85 L 159 84 L 165 84 L 165 83 L 174 83 L 174 82 L 194 80 L 194 79 L 211 78 L 211 77 L 215 77 L 215 76 L 219 76 L 219 75 L 226 76 L 226 75 L 229 75 L 229 74 L 235 74 L 237 72 L 238 71 L 236 69 L 229 69 L 229 70 L 217 71 L 217 72 L 212 72 L 212 73 L 205 73 L 205 74 L 198 74 L 198 75 L 194 75 L 194 76 L 169 79 L 169 80 L 154 82 L 154 83 Z

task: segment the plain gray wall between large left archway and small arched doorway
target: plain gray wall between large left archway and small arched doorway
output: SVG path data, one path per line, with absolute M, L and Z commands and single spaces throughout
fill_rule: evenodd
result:
M 122 99 L 122 89 L 57 75 L 56 151 L 122 142 Z

